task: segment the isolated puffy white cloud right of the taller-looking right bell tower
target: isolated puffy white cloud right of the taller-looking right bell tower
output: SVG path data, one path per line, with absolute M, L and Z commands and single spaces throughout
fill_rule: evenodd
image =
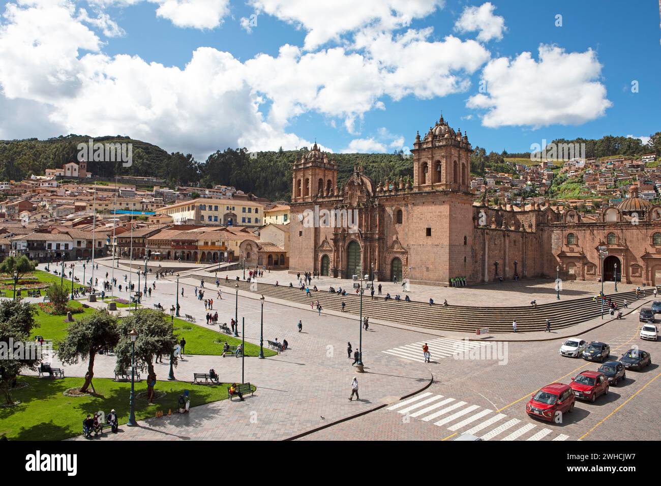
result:
M 487 93 L 470 97 L 466 106 L 486 110 L 482 124 L 490 128 L 582 124 L 612 104 L 599 81 L 601 70 L 591 49 L 566 53 L 541 45 L 539 61 L 529 52 L 489 61 L 482 73 Z

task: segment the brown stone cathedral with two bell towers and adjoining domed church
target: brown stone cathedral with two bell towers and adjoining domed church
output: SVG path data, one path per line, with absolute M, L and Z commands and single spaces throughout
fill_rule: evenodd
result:
M 358 165 L 340 186 L 315 143 L 293 164 L 290 271 L 434 285 L 556 276 L 661 285 L 661 206 L 637 186 L 598 214 L 548 201 L 488 206 L 471 192 L 472 151 L 441 116 L 416 134 L 412 181 L 377 184 Z M 311 223 L 311 212 L 338 218 Z

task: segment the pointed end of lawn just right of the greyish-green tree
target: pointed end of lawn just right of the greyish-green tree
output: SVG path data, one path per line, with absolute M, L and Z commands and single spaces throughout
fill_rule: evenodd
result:
M 237 346 L 241 344 L 241 338 L 231 337 L 225 333 L 217 333 L 212 331 L 204 325 L 197 325 L 178 319 L 175 317 L 176 334 L 179 337 L 186 339 L 186 352 L 185 354 L 209 354 L 211 356 L 220 356 L 223 354 L 223 343 L 227 341 L 230 346 Z M 219 342 L 216 342 L 219 341 Z M 246 343 L 245 355 L 257 356 L 259 354 L 259 346 L 253 343 Z M 275 356 L 276 352 L 264 346 L 264 356 Z

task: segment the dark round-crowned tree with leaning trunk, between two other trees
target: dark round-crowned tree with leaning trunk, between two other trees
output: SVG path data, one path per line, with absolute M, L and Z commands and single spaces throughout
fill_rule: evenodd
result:
M 88 360 L 81 393 L 85 393 L 90 385 L 93 391 L 96 391 L 92 378 L 94 378 L 94 360 L 97 353 L 104 348 L 114 348 L 119 340 L 117 319 L 105 309 L 95 311 L 80 321 L 69 324 L 67 336 L 58 341 L 58 357 L 65 364 Z

